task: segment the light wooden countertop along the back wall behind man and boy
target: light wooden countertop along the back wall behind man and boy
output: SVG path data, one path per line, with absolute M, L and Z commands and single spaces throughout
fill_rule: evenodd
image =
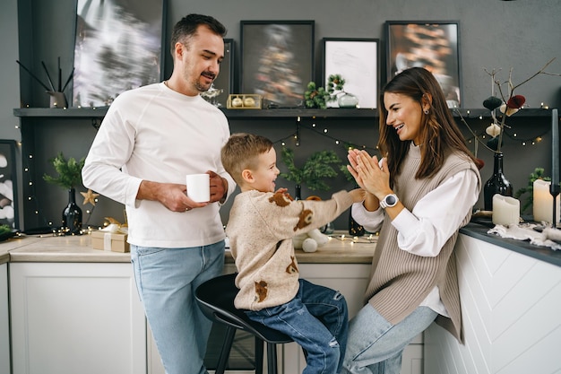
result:
M 306 253 L 297 249 L 301 264 L 370 264 L 377 237 L 352 239 L 341 234 L 332 235 L 329 242 Z M 111 252 L 91 248 L 90 235 L 16 237 L 0 243 L 0 259 L 4 262 L 130 262 L 130 253 Z M 226 251 L 226 263 L 233 263 Z

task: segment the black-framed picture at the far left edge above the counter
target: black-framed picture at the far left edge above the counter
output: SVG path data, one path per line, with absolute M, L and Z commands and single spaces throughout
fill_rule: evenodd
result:
M 15 140 L 0 139 L 0 225 L 12 230 L 20 227 L 15 147 Z

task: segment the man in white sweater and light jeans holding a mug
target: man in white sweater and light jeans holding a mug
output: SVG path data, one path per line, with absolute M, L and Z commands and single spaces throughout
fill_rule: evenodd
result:
M 199 93 L 219 74 L 225 34 L 210 16 L 177 22 L 171 77 L 117 97 L 82 170 L 84 186 L 126 206 L 136 286 L 167 374 L 207 372 L 211 322 L 194 290 L 222 271 L 219 208 L 235 183 L 220 162 L 228 120 Z M 186 174 L 204 172 L 211 200 L 195 203 Z

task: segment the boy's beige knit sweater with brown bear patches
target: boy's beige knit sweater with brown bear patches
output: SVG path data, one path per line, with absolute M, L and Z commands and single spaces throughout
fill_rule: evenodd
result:
M 256 190 L 237 195 L 226 228 L 238 272 L 236 308 L 260 310 L 292 300 L 299 275 L 292 238 L 331 222 L 351 204 L 347 191 L 325 201 Z

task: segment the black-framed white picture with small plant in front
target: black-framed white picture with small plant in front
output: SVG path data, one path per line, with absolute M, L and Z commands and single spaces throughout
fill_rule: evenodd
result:
M 322 82 L 327 87 L 331 74 L 345 80 L 344 91 L 358 98 L 358 108 L 377 108 L 380 69 L 378 65 L 379 39 L 324 38 Z M 338 107 L 336 101 L 328 107 Z

